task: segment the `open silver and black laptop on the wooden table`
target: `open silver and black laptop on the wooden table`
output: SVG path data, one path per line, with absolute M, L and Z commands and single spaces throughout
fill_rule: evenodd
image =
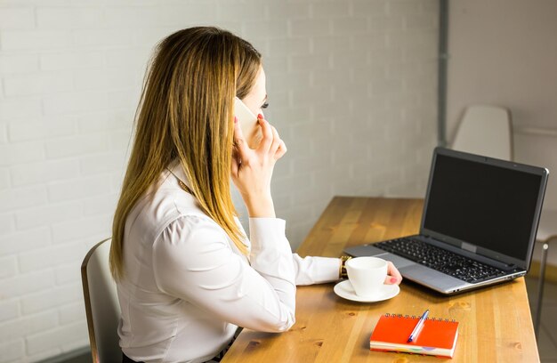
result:
M 419 234 L 344 252 L 392 261 L 441 294 L 519 278 L 529 270 L 548 173 L 436 148 Z

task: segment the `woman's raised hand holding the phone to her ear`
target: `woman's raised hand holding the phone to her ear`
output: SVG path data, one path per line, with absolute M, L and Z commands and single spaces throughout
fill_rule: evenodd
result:
M 232 153 L 232 181 L 238 188 L 250 217 L 275 217 L 270 196 L 270 179 L 277 160 L 285 155 L 287 146 L 280 140 L 277 129 L 262 115 L 257 116 L 262 141 L 257 149 L 249 149 L 238 119 L 234 118 L 234 151 Z

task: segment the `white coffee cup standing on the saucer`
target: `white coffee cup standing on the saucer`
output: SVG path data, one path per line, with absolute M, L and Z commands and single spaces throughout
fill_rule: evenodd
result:
M 381 293 L 387 262 L 378 257 L 356 257 L 346 262 L 346 272 L 358 296 L 373 298 Z

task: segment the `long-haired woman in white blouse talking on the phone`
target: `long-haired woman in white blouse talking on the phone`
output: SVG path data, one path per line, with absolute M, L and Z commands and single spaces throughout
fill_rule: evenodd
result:
M 262 141 L 249 149 L 235 97 Z M 295 323 L 297 285 L 339 278 L 341 260 L 292 254 L 270 179 L 287 148 L 262 117 L 261 54 L 218 28 L 188 28 L 157 47 L 113 224 L 110 266 L 122 308 L 125 361 L 214 358 L 238 327 Z M 231 178 L 230 178 L 231 177 Z M 249 214 L 238 222 L 230 179 Z M 400 283 L 391 265 L 387 283 Z

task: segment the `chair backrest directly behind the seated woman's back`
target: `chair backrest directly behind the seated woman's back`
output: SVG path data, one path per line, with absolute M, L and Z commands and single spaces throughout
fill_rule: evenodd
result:
M 120 362 L 116 283 L 109 269 L 110 238 L 93 246 L 81 264 L 81 280 L 93 362 Z

